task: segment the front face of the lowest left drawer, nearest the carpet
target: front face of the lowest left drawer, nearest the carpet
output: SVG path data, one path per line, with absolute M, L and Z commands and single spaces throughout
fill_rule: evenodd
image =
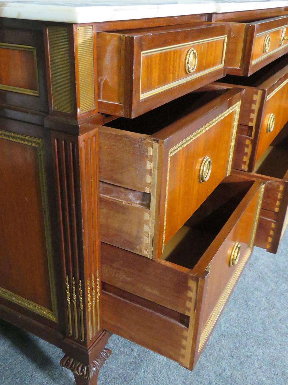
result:
M 245 210 L 209 263 L 207 269 L 209 275 L 206 278 L 208 280 L 206 298 L 202 306 L 202 329 L 198 352 L 200 352 L 214 328 L 252 251 L 265 186 L 258 184 L 257 189 L 255 187 L 254 184 L 241 202 L 243 205 L 244 201 L 246 201 Z M 238 206 L 239 210 L 240 205 Z M 213 244 L 214 246 L 217 244 L 217 238 L 211 246 Z M 202 258 L 205 259 L 205 255 Z

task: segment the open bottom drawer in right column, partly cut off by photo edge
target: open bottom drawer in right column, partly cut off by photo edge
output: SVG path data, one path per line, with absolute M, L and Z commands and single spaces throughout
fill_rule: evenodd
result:
M 288 124 L 255 165 L 247 178 L 266 180 L 255 245 L 276 253 L 288 224 Z

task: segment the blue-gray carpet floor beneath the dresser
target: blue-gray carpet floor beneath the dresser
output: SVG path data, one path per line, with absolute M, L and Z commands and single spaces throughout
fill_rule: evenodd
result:
M 193 372 L 113 335 L 99 385 L 288 384 L 288 231 L 278 254 L 254 249 Z M 0 321 L 0 385 L 74 385 L 60 349 Z

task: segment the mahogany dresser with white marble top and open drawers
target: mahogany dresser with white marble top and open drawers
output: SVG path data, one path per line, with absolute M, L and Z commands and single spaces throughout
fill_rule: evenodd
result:
M 79 385 L 192 370 L 288 224 L 288 1 L 181 3 L 0 3 L 0 317 Z

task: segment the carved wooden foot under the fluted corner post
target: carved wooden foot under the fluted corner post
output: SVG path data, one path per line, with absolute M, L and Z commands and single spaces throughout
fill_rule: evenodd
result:
M 104 348 L 89 365 L 65 355 L 61 359 L 60 365 L 73 372 L 77 385 L 97 385 L 99 370 L 111 353 L 110 349 Z

